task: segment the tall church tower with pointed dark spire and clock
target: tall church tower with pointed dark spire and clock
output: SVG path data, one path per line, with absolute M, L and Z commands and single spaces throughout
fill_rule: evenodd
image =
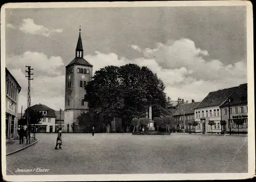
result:
M 83 58 L 81 29 L 76 45 L 75 58 L 66 66 L 65 86 L 65 121 L 63 130 L 73 132 L 72 124 L 77 124 L 77 117 L 88 111 L 88 103 L 83 100 L 86 95 L 84 87 L 92 80 L 93 65 Z

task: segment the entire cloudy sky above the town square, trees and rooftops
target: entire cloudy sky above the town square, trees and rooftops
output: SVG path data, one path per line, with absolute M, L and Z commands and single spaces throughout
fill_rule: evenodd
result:
M 6 66 L 22 86 L 34 68 L 31 104 L 64 108 L 65 66 L 79 26 L 84 58 L 106 65 L 148 66 L 172 100 L 201 101 L 247 82 L 246 7 L 58 8 L 6 10 Z

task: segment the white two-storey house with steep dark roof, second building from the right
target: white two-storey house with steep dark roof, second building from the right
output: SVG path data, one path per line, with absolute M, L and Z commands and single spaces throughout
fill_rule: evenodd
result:
M 195 108 L 195 121 L 200 123 L 197 132 L 221 132 L 221 106 L 238 86 L 210 92 Z M 212 121 L 212 122 L 210 122 Z M 214 123 L 214 125 L 209 125 Z

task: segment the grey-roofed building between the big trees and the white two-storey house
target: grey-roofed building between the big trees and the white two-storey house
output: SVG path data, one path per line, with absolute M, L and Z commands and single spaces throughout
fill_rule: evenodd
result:
M 195 131 L 195 126 L 189 125 L 189 123 L 192 124 L 193 121 L 195 121 L 194 108 L 199 103 L 200 102 L 195 102 L 194 99 L 191 103 L 186 101 L 185 103 L 179 105 L 179 107 L 174 111 L 173 117 L 175 120 L 176 131 L 181 131 L 180 129 L 183 130 L 184 128 L 186 132 L 188 130 L 191 130 L 192 132 Z

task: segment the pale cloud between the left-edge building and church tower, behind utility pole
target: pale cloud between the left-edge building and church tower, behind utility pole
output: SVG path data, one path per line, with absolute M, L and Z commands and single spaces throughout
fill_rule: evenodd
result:
M 45 104 L 53 109 L 64 108 L 65 70 L 64 63 L 59 56 L 47 56 L 44 53 L 27 51 L 23 55 L 7 56 L 7 68 L 22 87 L 19 94 L 18 108 L 27 107 L 27 87 L 25 65 L 33 67 L 31 80 L 31 105 Z M 26 74 L 26 75 L 25 75 Z

